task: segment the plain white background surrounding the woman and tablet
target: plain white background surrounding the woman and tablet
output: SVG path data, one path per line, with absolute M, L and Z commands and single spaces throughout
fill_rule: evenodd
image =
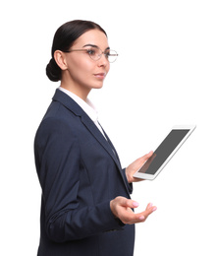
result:
M 119 53 L 90 94 L 123 165 L 155 150 L 175 124 L 196 124 L 154 181 L 135 184 L 135 256 L 219 255 L 219 6 L 213 0 L 3 1 L 1 6 L 1 255 L 36 255 L 40 187 L 35 130 L 58 83 L 45 76 L 54 32 L 91 20 Z

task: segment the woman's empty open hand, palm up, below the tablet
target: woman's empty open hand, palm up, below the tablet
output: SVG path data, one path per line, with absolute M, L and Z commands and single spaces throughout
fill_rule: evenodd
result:
M 132 208 L 137 208 L 138 203 L 125 197 L 116 197 L 110 201 L 110 208 L 113 215 L 120 219 L 123 224 L 138 224 L 146 221 L 147 217 L 156 211 L 156 207 L 151 203 L 147 205 L 142 213 L 135 214 Z

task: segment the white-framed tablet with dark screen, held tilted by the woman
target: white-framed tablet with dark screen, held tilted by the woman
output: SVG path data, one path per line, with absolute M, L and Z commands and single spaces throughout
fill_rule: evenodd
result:
M 174 126 L 153 155 L 137 170 L 134 177 L 153 180 L 189 138 L 194 128 L 195 125 Z

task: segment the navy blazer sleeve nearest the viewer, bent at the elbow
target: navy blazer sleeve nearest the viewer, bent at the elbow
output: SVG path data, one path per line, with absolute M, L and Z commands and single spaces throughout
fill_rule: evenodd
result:
M 45 229 L 50 239 L 64 242 L 111 229 L 122 229 L 110 202 L 81 207 L 80 144 L 73 129 L 53 117 L 42 121 L 34 141 L 35 164 L 42 188 Z

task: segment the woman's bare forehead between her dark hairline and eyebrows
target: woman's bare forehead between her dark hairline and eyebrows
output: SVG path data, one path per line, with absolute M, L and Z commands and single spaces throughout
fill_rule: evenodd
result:
M 94 44 L 101 49 L 109 47 L 108 39 L 104 32 L 91 30 L 84 32 L 74 43 L 74 46 L 83 47 L 85 44 Z

